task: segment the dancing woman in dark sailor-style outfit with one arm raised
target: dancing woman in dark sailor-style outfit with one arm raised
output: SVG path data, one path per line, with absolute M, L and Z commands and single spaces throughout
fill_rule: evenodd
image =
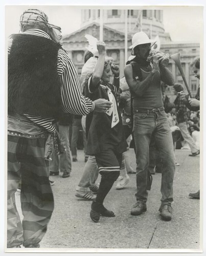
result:
M 112 65 L 112 58 L 106 56 L 104 42 L 98 41 L 97 49 L 99 58 L 94 71 L 87 75 L 84 95 L 92 100 L 103 97 L 112 102 L 112 107 L 102 114 L 94 112 L 88 131 L 86 152 L 95 156 L 101 175 L 97 197 L 91 204 L 90 218 L 94 222 L 99 221 L 100 215 L 115 217 L 114 212 L 107 210 L 103 202 L 120 174 L 122 153 L 127 146 L 116 98 L 120 85 L 119 67 Z M 112 73 L 113 84 L 110 83 Z

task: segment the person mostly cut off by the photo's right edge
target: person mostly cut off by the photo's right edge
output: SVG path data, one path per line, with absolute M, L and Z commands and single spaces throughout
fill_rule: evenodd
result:
M 200 58 L 199 57 L 194 58 L 190 66 L 192 68 L 194 76 L 200 79 Z M 186 95 L 184 93 L 181 93 L 181 98 L 185 102 L 189 110 L 191 111 L 200 110 L 200 87 L 198 87 L 197 93 L 194 98 L 189 98 L 189 95 Z M 196 193 L 190 193 L 189 197 L 199 199 L 200 190 L 198 190 Z

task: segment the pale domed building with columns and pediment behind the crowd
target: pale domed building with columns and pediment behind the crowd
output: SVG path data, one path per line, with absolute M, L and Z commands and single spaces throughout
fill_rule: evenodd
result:
M 127 17 L 125 17 L 127 15 Z M 125 20 L 127 24 L 125 25 Z M 120 77 L 124 76 L 124 67 L 130 56 L 132 35 L 139 31 L 144 31 L 150 38 L 157 35 L 161 44 L 161 51 L 169 53 L 180 52 L 182 68 L 194 95 L 198 81 L 194 78 L 189 63 L 199 56 L 199 43 L 197 42 L 173 42 L 170 34 L 165 32 L 163 21 L 163 10 L 102 10 L 103 20 L 103 40 L 107 47 L 107 55 L 111 56 L 115 63 L 120 66 Z M 127 28 L 127 54 L 125 54 L 125 28 Z M 84 65 L 85 47 L 88 45 L 85 34 L 100 38 L 100 10 L 83 9 L 81 11 L 81 28 L 62 38 L 62 46 L 68 51 L 68 55 L 74 62 L 78 75 Z M 179 71 L 172 59 L 170 59 L 169 69 L 176 78 L 176 82 L 184 83 Z

